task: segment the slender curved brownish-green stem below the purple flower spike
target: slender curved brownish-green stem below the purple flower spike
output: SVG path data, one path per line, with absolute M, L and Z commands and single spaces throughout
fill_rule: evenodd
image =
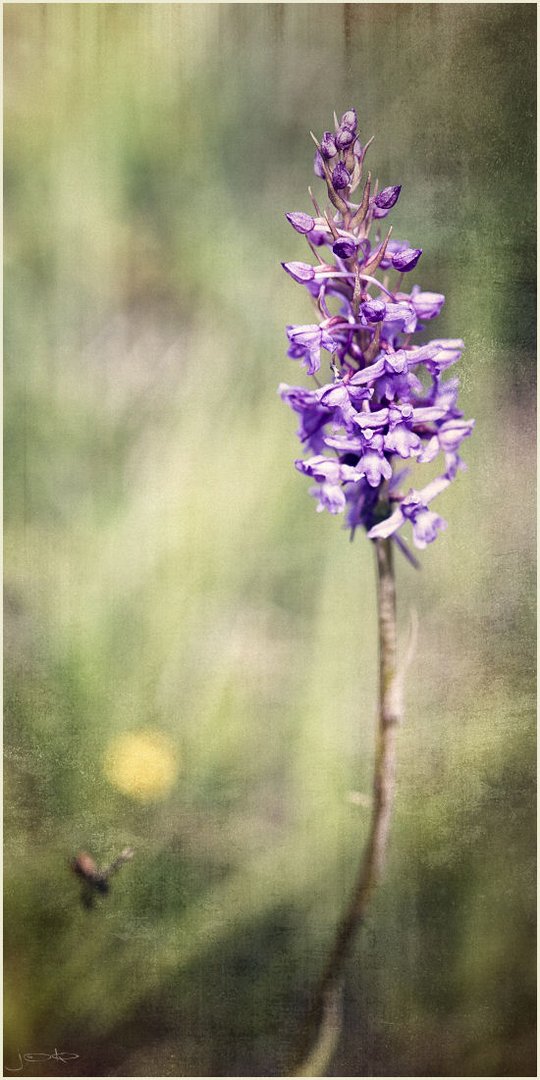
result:
M 396 669 L 395 579 L 392 541 L 375 540 L 379 622 L 379 707 L 369 836 L 349 905 L 338 924 L 326 967 L 312 999 L 293 1057 L 292 1076 L 324 1076 L 329 1055 L 323 1045 L 337 1044 L 340 1027 L 339 999 L 343 966 L 356 932 L 362 927 L 372 894 L 386 860 L 394 799 L 395 729 L 401 720 L 400 681 Z M 328 1026 L 334 1029 L 329 1038 Z M 309 1053 L 310 1048 L 313 1050 Z M 309 1056 L 308 1056 L 309 1054 Z M 325 1058 L 324 1061 L 322 1058 Z M 307 1071 L 316 1062 L 318 1071 Z

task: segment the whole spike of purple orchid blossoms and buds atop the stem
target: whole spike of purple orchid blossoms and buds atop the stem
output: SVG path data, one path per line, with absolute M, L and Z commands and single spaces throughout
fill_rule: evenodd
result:
M 363 179 L 368 144 L 362 145 L 354 109 L 314 141 L 314 171 L 325 180 L 329 205 L 321 208 L 311 195 L 313 213 L 286 216 L 322 254 L 315 265 L 282 264 L 307 288 L 318 314 L 318 322 L 287 327 L 288 355 L 314 377 L 312 389 L 280 387 L 299 416 L 308 455 L 296 468 L 315 482 L 316 509 L 345 512 L 351 535 L 362 526 L 370 539 L 393 537 L 406 550 L 397 534 L 409 526 L 422 549 L 446 528 L 430 503 L 465 468 L 459 450 L 474 427 L 457 407 L 458 380 L 444 377 L 463 341 L 413 340 L 445 298 L 418 284 L 402 291 L 403 274 L 415 269 L 422 249 L 391 238 L 392 229 L 379 231 L 401 185 L 378 191 L 370 174 Z M 324 386 L 318 379 L 322 350 L 332 375 Z M 410 473 L 404 462 L 421 470 L 440 457 L 440 476 L 419 488 L 404 485 Z

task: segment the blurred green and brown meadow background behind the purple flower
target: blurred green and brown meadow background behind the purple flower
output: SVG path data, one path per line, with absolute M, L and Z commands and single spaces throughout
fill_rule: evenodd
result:
M 535 31 L 527 4 L 4 8 L 6 1066 L 286 1067 L 369 813 L 373 552 L 315 514 L 276 394 L 312 318 L 284 213 L 355 105 L 476 430 L 397 566 L 419 646 L 330 1071 L 536 1075 Z M 83 909 L 69 856 L 125 845 Z

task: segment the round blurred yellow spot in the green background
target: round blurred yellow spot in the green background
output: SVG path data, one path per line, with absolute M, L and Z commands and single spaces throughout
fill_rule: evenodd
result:
M 104 772 L 113 787 L 140 802 L 163 798 L 178 772 L 174 744 L 160 731 L 126 731 L 109 742 Z

